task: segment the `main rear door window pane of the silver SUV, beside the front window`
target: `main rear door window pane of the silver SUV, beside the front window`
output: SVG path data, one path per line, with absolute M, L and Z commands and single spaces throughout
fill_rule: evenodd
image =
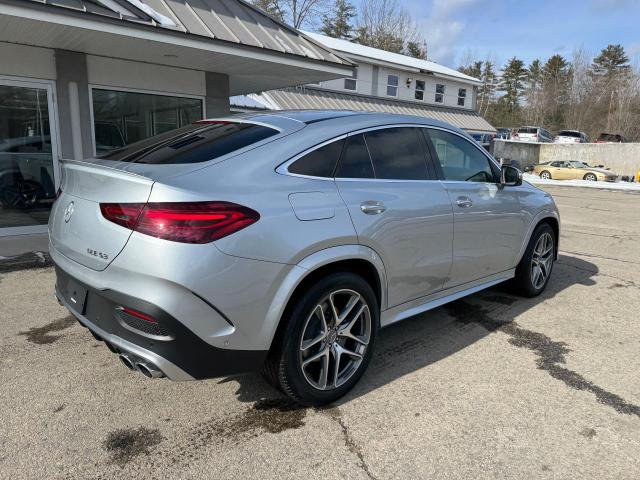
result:
M 376 178 L 427 180 L 424 143 L 416 128 L 399 127 L 372 130 L 365 140 Z

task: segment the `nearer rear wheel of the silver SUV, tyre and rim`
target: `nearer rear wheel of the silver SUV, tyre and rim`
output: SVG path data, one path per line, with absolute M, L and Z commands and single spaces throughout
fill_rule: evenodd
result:
M 328 275 L 294 301 L 266 377 L 303 405 L 325 405 L 351 390 L 367 368 L 378 302 L 371 286 L 348 272 Z

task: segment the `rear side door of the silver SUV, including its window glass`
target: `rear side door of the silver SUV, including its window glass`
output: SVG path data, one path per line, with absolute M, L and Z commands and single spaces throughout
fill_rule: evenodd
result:
M 419 129 L 349 135 L 336 170 L 358 241 L 382 259 L 388 307 L 440 290 L 452 260 L 453 212 Z

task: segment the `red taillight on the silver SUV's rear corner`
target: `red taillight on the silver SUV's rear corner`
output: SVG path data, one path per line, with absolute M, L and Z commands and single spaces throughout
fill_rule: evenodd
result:
M 107 220 L 156 238 L 209 243 L 260 219 L 260 214 L 230 202 L 101 203 Z

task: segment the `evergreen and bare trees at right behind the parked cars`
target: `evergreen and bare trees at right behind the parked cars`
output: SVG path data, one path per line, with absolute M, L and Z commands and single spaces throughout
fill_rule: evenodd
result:
M 553 55 L 528 66 L 517 57 L 497 72 L 491 60 L 465 62 L 462 73 L 479 78 L 477 110 L 492 125 L 544 126 L 552 132 L 580 130 L 592 139 L 603 132 L 640 140 L 640 73 L 622 45 L 595 57 Z

